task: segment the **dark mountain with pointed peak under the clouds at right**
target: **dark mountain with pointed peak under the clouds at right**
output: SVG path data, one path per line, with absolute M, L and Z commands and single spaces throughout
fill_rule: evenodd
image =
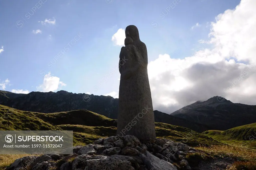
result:
M 171 115 L 209 126 L 212 130 L 228 130 L 256 122 L 256 105 L 232 103 L 218 96 L 195 102 Z

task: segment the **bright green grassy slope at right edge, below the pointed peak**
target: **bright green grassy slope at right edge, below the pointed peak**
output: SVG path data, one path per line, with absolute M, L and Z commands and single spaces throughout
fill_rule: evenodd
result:
M 223 143 L 256 149 L 256 123 L 238 126 L 226 131 L 209 130 L 203 134 Z

